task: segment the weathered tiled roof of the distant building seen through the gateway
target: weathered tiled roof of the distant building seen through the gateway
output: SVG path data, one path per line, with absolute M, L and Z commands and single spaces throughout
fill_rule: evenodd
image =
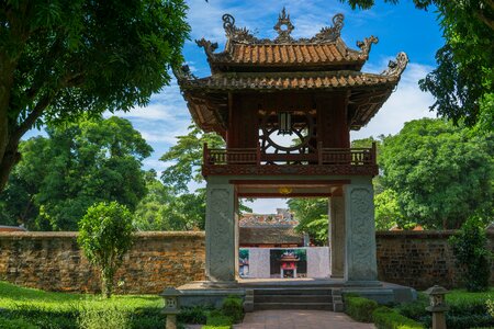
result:
M 303 245 L 304 236 L 291 226 L 240 227 L 242 245 Z

